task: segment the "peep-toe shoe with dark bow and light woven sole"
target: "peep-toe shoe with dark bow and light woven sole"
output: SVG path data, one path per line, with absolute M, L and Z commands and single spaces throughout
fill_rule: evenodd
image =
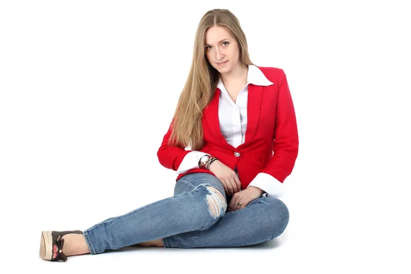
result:
M 67 256 L 63 253 L 64 239 L 66 234 L 83 234 L 80 230 L 70 230 L 64 232 L 43 231 L 40 241 L 40 258 L 49 261 L 66 262 Z

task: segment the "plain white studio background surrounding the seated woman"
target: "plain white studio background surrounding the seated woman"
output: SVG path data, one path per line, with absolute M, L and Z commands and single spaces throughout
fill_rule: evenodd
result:
M 410 273 L 406 1 L 146 2 L 0 2 L 1 267 Z M 254 64 L 288 78 L 300 147 L 284 234 L 40 260 L 42 230 L 84 230 L 173 195 L 177 175 L 156 153 L 213 8 L 238 17 Z

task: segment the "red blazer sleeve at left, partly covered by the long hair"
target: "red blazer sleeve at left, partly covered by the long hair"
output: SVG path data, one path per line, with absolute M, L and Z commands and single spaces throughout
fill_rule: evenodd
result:
M 157 151 L 158 162 L 167 169 L 177 171 L 179 165 L 182 163 L 186 154 L 191 150 L 185 150 L 184 147 L 175 147 L 168 145 L 171 136 L 172 125 L 174 119 L 171 121 L 169 130 L 164 135 L 160 148 Z

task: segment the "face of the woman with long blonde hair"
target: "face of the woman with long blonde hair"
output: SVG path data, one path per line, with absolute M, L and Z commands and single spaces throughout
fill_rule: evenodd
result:
M 238 42 L 226 27 L 210 27 L 206 32 L 204 47 L 208 62 L 219 73 L 229 73 L 240 65 Z

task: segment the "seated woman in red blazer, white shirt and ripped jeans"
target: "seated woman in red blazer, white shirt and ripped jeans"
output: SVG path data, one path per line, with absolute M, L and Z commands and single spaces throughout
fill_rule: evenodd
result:
M 271 240 L 288 225 L 288 208 L 277 197 L 298 144 L 284 71 L 253 65 L 236 16 L 210 10 L 197 28 L 190 73 L 157 154 L 178 173 L 174 196 L 84 232 L 43 231 L 40 258 L 66 262 L 130 245 L 240 247 Z

